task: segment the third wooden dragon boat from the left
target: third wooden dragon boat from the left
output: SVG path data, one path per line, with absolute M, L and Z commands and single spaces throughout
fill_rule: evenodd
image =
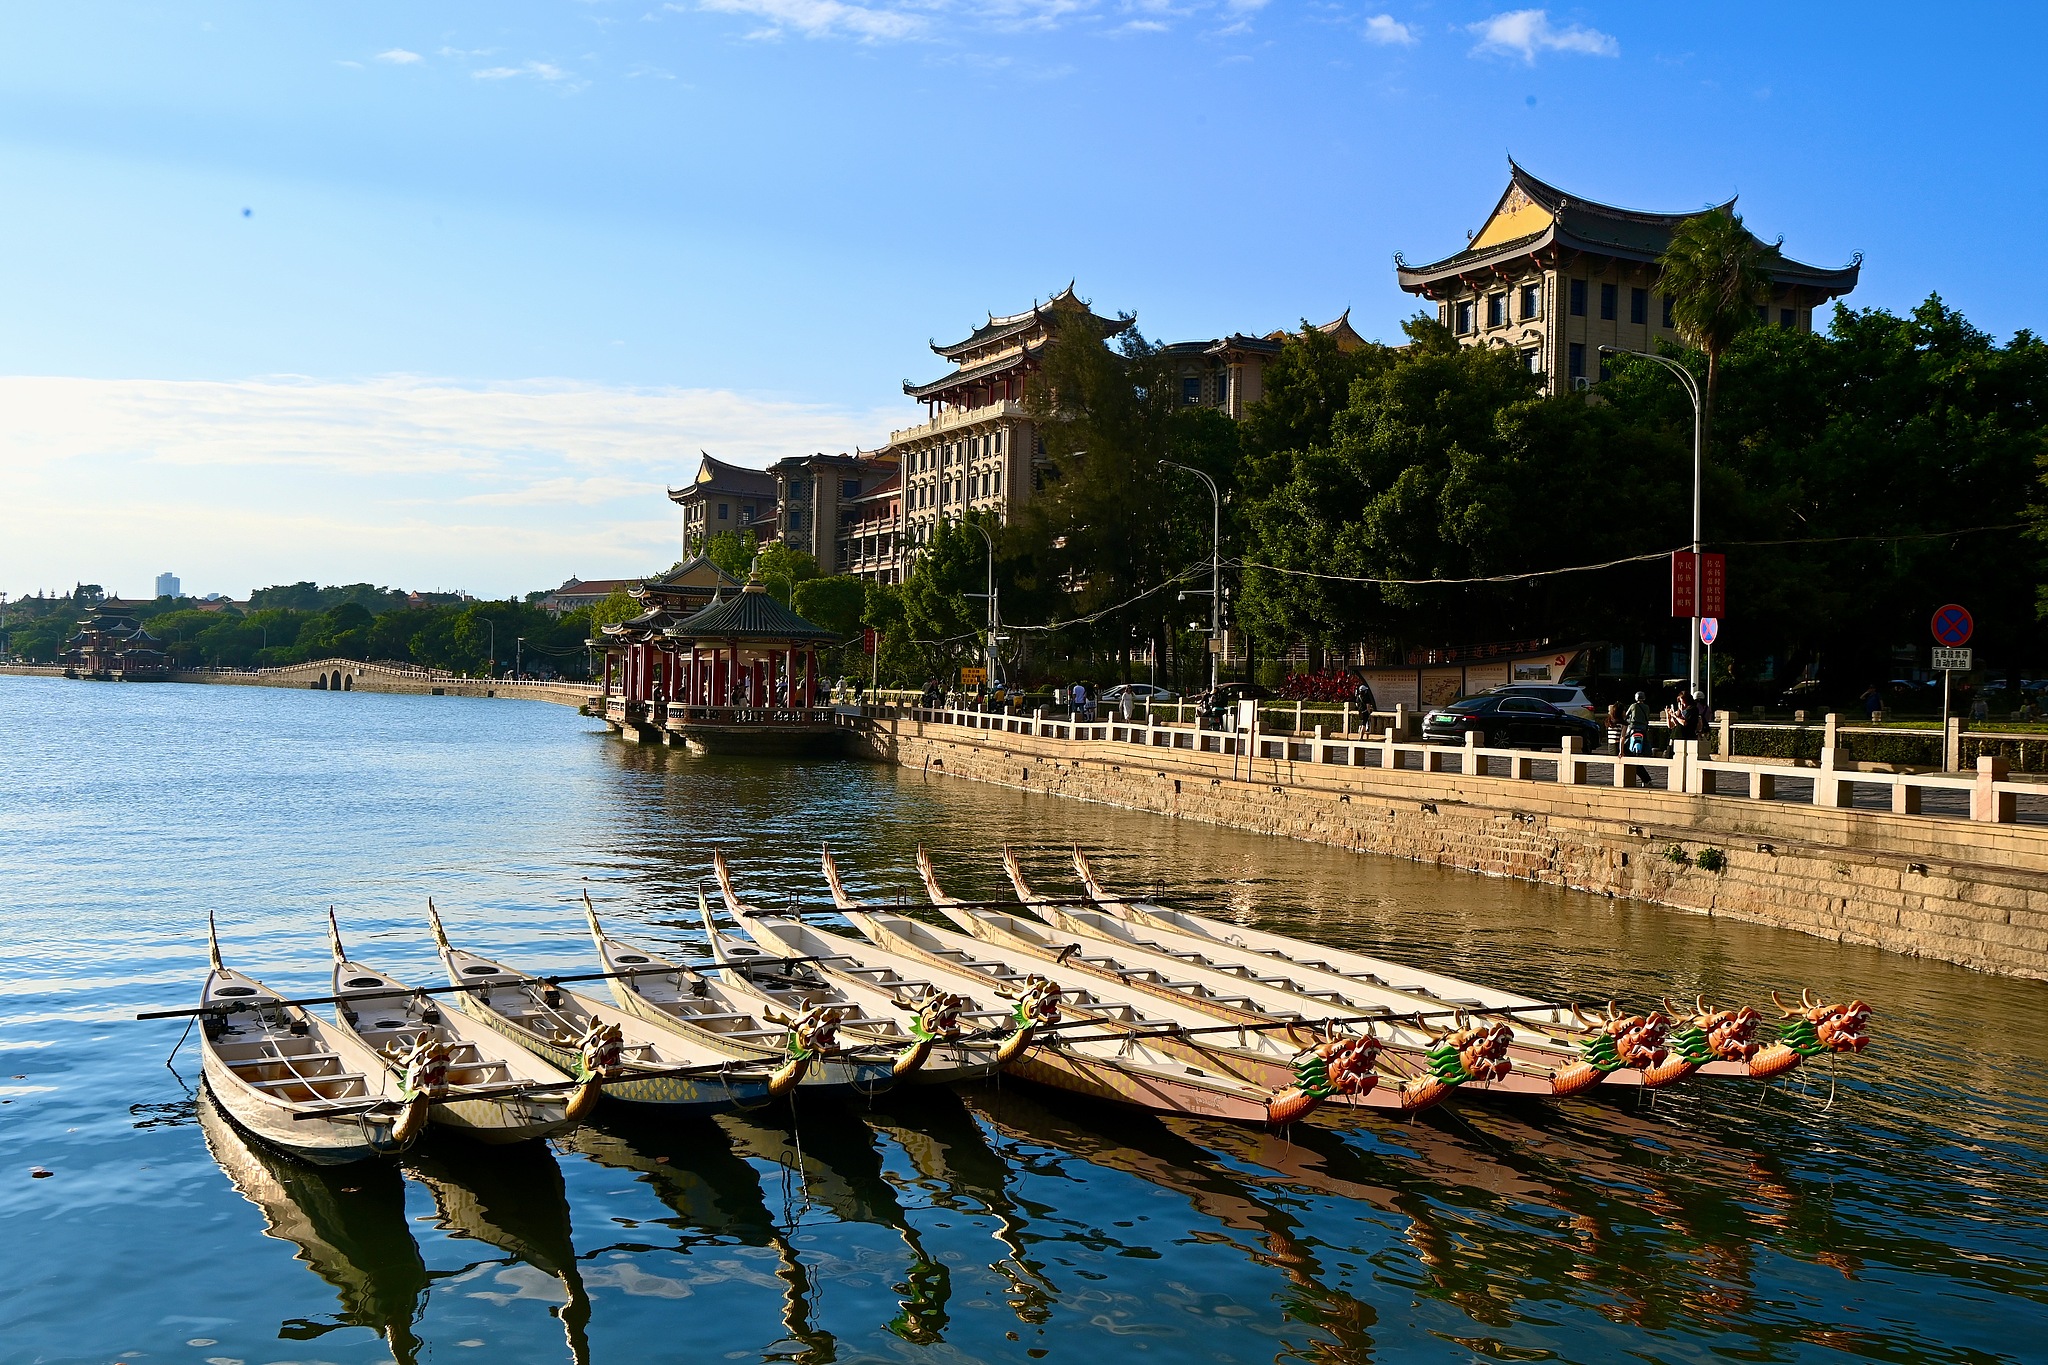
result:
M 426 917 L 449 982 L 461 986 L 455 999 L 465 1013 L 578 1083 L 596 1081 L 612 1099 L 709 1113 L 768 1103 L 776 1095 L 770 1091 L 774 1078 L 786 1081 L 782 1089 L 795 1085 L 795 1072 L 786 1064 L 776 1068 L 774 1054 L 735 1060 L 678 1027 L 451 945 L 432 900 Z

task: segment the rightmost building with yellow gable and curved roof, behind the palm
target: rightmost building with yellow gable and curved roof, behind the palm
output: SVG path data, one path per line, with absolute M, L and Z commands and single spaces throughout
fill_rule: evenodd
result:
M 1677 340 L 1671 295 L 1657 289 L 1657 258 L 1694 213 L 1616 209 L 1544 184 L 1511 160 L 1507 190 L 1464 250 L 1427 266 L 1395 254 L 1401 289 L 1436 303 L 1438 319 L 1466 346 L 1503 346 L 1544 377 L 1550 393 L 1595 383 L 1599 348 L 1655 350 Z M 1841 268 L 1786 258 L 1774 272 L 1761 321 L 1812 329 L 1815 307 L 1855 289 L 1862 256 Z

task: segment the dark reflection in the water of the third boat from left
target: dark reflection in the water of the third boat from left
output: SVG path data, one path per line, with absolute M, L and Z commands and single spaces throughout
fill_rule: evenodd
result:
M 684 1248 L 721 1242 L 772 1248 L 776 1279 L 782 1281 L 782 1330 L 793 1349 L 766 1355 L 799 1365 L 827 1365 L 840 1357 L 831 1332 L 811 1322 L 817 1285 L 768 1212 L 762 1173 L 735 1152 L 733 1138 L 719 1124 L 696 1115 L 641 1121 L 614 1109 L 604 1128 L 584 1126 L 555 1142 L 600 1166 L 637 1175 L 674 1212 L 659 1222 L 684 1236 Z

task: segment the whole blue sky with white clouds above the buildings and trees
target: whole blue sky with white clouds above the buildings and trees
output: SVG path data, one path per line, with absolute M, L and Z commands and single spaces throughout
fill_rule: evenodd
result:
M 2048 6 L 492 0 L 0 10 L 0 589 L 666 567 L 698 450 L 874 448 L 1069 280 L 1352 311 L 1507 158 L 1739 194 L 1858 307 L 2038 327 Z

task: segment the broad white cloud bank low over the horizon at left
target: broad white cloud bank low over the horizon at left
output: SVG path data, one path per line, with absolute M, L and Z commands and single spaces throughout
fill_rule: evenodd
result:
M 645 573 L 676 559 L 666 489 L 700 448 L 764 467 L 903 422 L 895 405 L 414 377 L 0 377 L 0 409 L 10 593 L 139 591 L 166 565 L 236 596 L 305 577 L 510 593 Z

